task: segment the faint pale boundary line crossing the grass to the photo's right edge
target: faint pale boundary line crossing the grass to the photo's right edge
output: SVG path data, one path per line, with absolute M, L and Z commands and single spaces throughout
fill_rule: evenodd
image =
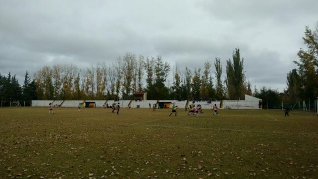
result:
M 240 130 L 240 129 L 221 129 L 221 128 L 205 128 L 205 127 L 187 127 L 187 126 L 167 126 L 167 125 L 150 125 L 144 124 L 142 126 L 148 127 L 165 127 L 165 128 L 185 128 L 185 129 L 205 129 L 217 131 L 234 131 L 234 132 L 256 132 L 256 133 L 272 133 L 272 134 L 305 134 L 305 135 L 318 135 L 317 133 L 295 133 L 295 132 L 270 132 L 270 131 L 255 131 L 255 130 Z

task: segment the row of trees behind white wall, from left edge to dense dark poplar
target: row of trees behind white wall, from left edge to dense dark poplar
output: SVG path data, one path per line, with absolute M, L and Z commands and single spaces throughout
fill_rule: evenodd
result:
M 161 56 L 145 58 L 126 53 L 116 63 L 92 64 L 86 69 L 74 64 L 44 66 L 34 73 L 32 81 L 26 72 L 22 87 L 15 76 L 0 75 L 0 88 L 5 89 L 1 90 L 1 100 L 133 99 L 135 91 L 146 91 L 148 99 L 156 100 L 243 99 L 245 93 L 251 94 L 239 49 L 235 49 L 232 60 L 227 60 L 224 81 L 219 57 L 214 67 L 213 73 L 211 62 L 205 62 L 202 71 L 177 65 L 171 69 Z M 171 70 L 172 84 L 167 82 Z

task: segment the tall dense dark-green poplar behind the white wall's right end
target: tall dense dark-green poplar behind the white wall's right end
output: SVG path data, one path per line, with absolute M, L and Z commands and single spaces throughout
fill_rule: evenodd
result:
M 226 86 L 228 97 L 230 99 L 243 99 L 244 98 L 244 72 L 243 72 L 243 58 L 240 58 L 239 49 L 233 52 L 233 63 L 231 59 L 227 60 L 227 77 Z

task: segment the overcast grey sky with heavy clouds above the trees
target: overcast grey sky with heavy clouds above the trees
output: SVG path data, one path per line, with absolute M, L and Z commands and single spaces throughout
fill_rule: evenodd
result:
M 283 91 L 306 48 L 305 27 L 318 21 L 318 0 L 0 0 L 0 73 L 43 66 L 114 62 L 127 52 L 171 68 L 203 68 L 239 48 L 246 79 Z M 212 66 L 212 73 L 214 66 Z M 171 70 L 172 73 L 172 70 Z M 169 78 L 171 78 L 171 74 Z M 172 83 L 172 78 L 168 79 Z

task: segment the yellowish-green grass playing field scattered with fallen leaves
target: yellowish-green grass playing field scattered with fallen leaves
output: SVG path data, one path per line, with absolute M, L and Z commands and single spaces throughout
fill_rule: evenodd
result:
M 4 178 L 318 178 L 318 116 L 281 110 L 0 108 Z

